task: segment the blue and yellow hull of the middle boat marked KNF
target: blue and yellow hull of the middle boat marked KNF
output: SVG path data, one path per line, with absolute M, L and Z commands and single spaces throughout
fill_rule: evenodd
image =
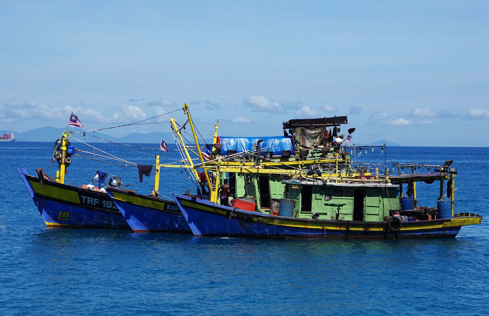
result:
M 130 195 L 124 191 L 111 189 L 108 189 L 107 193 L 135 233 L 191 233 L 174 200 L 156 199 L 139 194 Z M 128 199 L 136 199 L 138 203 L 130 202 Z M 146 204 L 154 207 L 145 206 Z

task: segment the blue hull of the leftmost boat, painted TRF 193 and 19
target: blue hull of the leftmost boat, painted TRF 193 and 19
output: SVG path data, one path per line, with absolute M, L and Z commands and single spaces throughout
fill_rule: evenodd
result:
M 129 229 L 116 208 L 102 209 L 82 203 L 96 201 L 96 204 L 106 205 L 106 201 L 110 201 L 107 194 L 52 181 L 43 184 L 38 178 L 29 176 L 25 169 L 18 168 L 17 171 L 47 226 Z M 36 192 L 33 185 L 42 188 L 42 192 Z M 69 194 L 59 195 L 59 190 Z

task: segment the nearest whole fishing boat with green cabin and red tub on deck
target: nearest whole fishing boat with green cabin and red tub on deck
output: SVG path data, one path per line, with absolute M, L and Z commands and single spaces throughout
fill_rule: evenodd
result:
M 301 145 L 304 146 L 300 140 L 304 140 L 304 136 L 317 135 L 317 123 L 327 127 L 327 121 L 320 119 L 290 120 L 284 123 L 284 131 L 288 128 L 293 138 L 299 140 L 296 149 L 300 151 Z M 339 127 L 336 123 L 334 126 Z M 438 166 L 412 166 L 411 174 L 399 172 L 390 177 L 385 156 L 384 165 L 354 162 L 348 157 L 348 150 L 355 153 L 355 146 L 325 147 L 322 144 L 326 142 L 312 144 L 313 147 L 320 146 L 321 152 L 328 155 L 334 153 L 337 159 L 342 157 L 342 161 L 319 163 L 314 170 L 299 171 L 284 178 L 282 186 L 259 185 L 260 177 L 275 172 L 266 166 L 256 165 L 253 169 L 241 168 L 240 171 L 240 168 L 218 165 L 218 173 L 241 172 L 253 184 L 247 186 L 249 191 L 245 192 L 257 199 L 252 207 L 240 200 L 229 206 L 221 205 L 220 199 L 202 200 L 178 194 L 174 198 L 195 236 L 288 239 L 455 237 L 462 226 L 481 223 L 481 215 L 454 213 L 457 171 L 450 166 L 453 161 L 447 160 Z M 336 138 L 335 142 L 341 144 L 342 139 Z M 382 150 L 385 153 L 385 144 Z M 416 173 L 415 170 L 420 168 L 435 169 L 427 174 Z M 440 181 L 436 207 L 416 206 L 416 182 L 419 181 Z M 444 181 L 447 181 L 448 201 L 443 200 Z M 409 187 L 407 197 L 402 196 L 404 183 Z M 264 195 L 278 198 L 278 212 L 272 209 L 267 212 L 258 207 Z

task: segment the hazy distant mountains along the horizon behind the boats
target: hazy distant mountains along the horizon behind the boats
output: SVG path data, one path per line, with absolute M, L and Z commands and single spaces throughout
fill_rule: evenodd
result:
M 26 131 L 26 132 L 16 132 L 12 131 L 14 133 L 14 137 L 16 141 L 47 141 L 47 142 L 54 142 L 56 139 L 60 138 L 61 134 L 65 131 L 65 128 L 56 128 L 52 126 L 45 126 L 41 128 L 36 128 L 31 131 Z M 7 130 L 2 130 L 0 131 L 0 134 L 6 134 L 10 131 Z M 153 133 L 148 133 L 148 134 L 143 134 L 143 133 L 131 133 L 123 137 L 113 137 L 104 133 L 100 132 L 88 132 L 89 134 L 95 135 L 100 138 L 105 138 L 105 139 L 110 139 L 112 141 L 117 141 L 117 142 L 122 142 L 122 143 L 148 143 L 148 144 L 159 144 L 159 140 L 161 138 L 161 133 L 158 132 L 153 132 Z M 76 133 L 73 134 L 74 137 L 83 140 L 83 134 Z M 188 138 L 188 137 L 187 137 Z M 173 143 L 173 136 L 172 133 L 163 133 L 163 140 L 165 140 L 167 143 Z M 188 139 L 191 141 L 191 139 Z M 211 139 L 205 139 L 207 142 L 211 142 Z M 71 142 L 76 142 L 75 139 L 71 138 Z M 89 137 L 88 135 L 85 138 L 85 141 L 88 142 L 93 142 L 94 138 Z M 399 143 L 388 141 L 385 139 L 379 139 L 370 143 L 362 143 L 362 144 L 356 144 L 357 146 L 381 146 L 385 144 L 387 146 L 400 146 Z

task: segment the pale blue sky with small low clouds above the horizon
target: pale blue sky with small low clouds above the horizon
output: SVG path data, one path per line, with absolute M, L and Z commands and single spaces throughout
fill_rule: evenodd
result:
M 357 143 L 489 146 L 487 1 L 99 2 L 0 3 L 0 129 L 187 102 L 205 134 L 218 117 L 222 135 L 270 136 L 336 114 Z M 169 125 L 113 135 L 135 131 Z

